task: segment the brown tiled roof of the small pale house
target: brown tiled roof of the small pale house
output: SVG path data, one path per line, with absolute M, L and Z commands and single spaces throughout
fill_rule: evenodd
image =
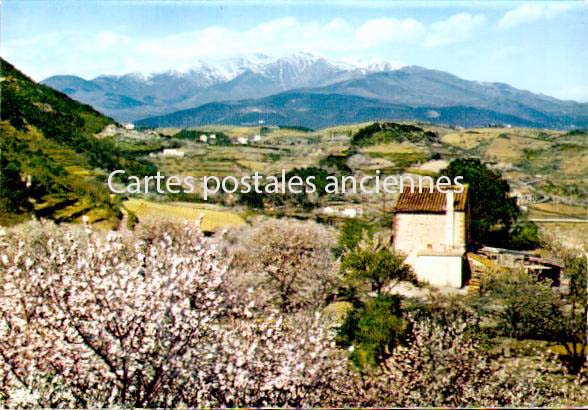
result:
M 451 189 L 451 187 L 444 188 L 446 191 Z M 467 197 L 468 187 L 464 185 L 462 192 L 454 194 L 455 211 L 465 211 Z M 395 212 L 441 213 L 446 211 L 446 207 L 447 195 L 444 192 L 437 189 L 430 192 L 428 187 L 424 187 L 422 192 L 419 192 L 418 189 L 411 192 L 411 188 L 405 186 L 394 209 Z

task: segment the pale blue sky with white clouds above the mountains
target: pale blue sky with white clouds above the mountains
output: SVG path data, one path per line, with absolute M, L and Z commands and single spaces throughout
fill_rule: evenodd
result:
M 304 51 L 420 65 L 588 102 L 586 0 L 2 0 L 0 7 L 0 55 L 35 80 Z

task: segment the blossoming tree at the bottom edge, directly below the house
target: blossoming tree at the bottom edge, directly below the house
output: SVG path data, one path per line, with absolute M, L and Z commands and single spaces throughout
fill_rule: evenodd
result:
M 499 371 L 468 330 L 471 325 L 463 319 L 413 322 L 407 343 L 366 378 L 367 402 L 379 407 L 536 406 L 552 404 L 561 395 L 561 386 L 542 383 L 543 372 Z

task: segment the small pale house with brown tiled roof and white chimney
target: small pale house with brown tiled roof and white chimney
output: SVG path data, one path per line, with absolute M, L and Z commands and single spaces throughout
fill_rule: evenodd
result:
M 423 192 L 405 187 L 394 210 L 394 250 L 407 255 L 417 280 L 461 288 L 469 239 L 468 189 Z

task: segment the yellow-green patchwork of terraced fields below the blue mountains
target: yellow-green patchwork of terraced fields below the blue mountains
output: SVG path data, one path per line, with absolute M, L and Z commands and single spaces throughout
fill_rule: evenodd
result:
M 354 174 L 374 174 L 380 170 L 384 174 L 435 175 L 452 159 L 473 156 L 494 164 L 510 180 L 513 188 L 530 183 L 539 197 L 563 197 L 579 206 L 583 206 L 582 198 L 588 198 L 585 165 L 588 163 L 588 138 L 585 134 L 507 127 L 456 130 L 428 124 L 406 124 L 434 132 L 438 138 L 352 146 L 352 136 L 369 123 L 313 132 L 209 126 L 201 129 L 223 132 L 233 140 L 239 136 L 262 135 L 262 141 L 256 145 L 230 146 L 183 141 L 184 158 L 158 157 L 155 162 L 168 175 L 278 174 L 282 169 L 310 166 L 327 167 L 331 172 L 347 167 Z M 179 130 L 159 131 L 173 135 Z M 328 157 L 332 157 L 330 161 L 326 161 Z M 363 197 L 347 200 L 377 201 Z

